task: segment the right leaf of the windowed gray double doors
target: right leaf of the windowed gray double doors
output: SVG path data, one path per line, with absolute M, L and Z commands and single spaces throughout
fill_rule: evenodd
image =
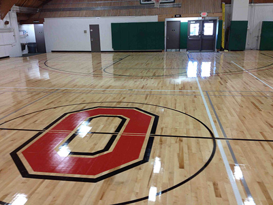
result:
M 214 51 L 216 39 L 216 20 L 203 20 L 202 51 Z

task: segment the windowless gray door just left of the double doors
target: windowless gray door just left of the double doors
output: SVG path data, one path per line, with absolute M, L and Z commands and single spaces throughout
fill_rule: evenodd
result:
M 166 49 L 179 49 L 180 20 L 167 22 L 166 35 Z

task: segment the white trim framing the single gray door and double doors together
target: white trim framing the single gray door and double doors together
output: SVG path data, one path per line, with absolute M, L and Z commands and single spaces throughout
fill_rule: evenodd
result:
M 167 21 L 171 21 L 171 20 L 180 20 L 180 22 L 188 22 L 188 20 L 212 20 L 215 19 L 217 20 L 217 25 L 216 25 L 216 38 L 215 38 L 215 42 L 217 42 L 217 38 L 218 38 L 218 24 L 219 24 L 219 17 L 181 17 L 181 18 L 165 18 L 165 31 L 164 31 L 164 51 L 167 51 L 166 49 L 166 36 L 167 36 Z M 221 37 L 221 36 L 220 36 Z M 217 43 L 215 43 L 215 47 L 214 47 L 214 52 L 217 52 L 216 49 L 216 45 Z M 179 49 L 180 50 L 180 49 Z

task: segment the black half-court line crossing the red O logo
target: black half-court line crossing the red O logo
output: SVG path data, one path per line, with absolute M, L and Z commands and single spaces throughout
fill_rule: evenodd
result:
M 34 129 L 16 129 L 16 128 L 0 128 L 0 130 L 16 130 L 16 131 L 31 131 L 31 132 L 46 132 L 46 130 L 34 130 Z M 72 131 L 66 131 L 66 130 L 52 130 L 48 131 L 50 133 L 71 133 Z M 80 134 L 82 132 L 74 132 L 77 134 Z M 119 134 L 118 132 L 87 132 L 87 134 Z M 142 134 L 139 133 L 124 133 L 126 135 L 134 135 L 139 136 Z M 211 137 L 206 136 L 186 136 L 186 135 L 164 135 L 164 134 L 150 134 L 150 136 L 153 137 L 177 137 L 177 138 L 196 138 L 196 139 L 211 139 Z M 216 139 L 221 140 L 235 140 L 235 141 L 267 141 L 267 142 L 273 142 L 273 139 L 248 139 L 248 138 L 224 138 L 224 137 L 218 137 Z

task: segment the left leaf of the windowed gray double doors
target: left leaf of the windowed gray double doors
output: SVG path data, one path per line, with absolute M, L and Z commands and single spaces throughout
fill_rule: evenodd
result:
M 202 20 L 188 21 L 187 51 L 201 51 Z

